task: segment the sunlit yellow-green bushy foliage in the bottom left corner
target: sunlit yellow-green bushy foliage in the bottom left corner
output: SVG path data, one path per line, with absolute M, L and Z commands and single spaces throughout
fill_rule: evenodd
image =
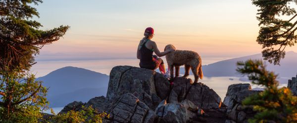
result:
M 0 72 L 0 123 L 32 123 L 42 118 L 40 111 L 47 109 L 47 89 L 35 81 L 30 73 L 13 70 Z

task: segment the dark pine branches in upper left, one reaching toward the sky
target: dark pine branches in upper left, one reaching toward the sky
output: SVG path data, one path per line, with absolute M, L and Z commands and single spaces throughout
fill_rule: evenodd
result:
M 42 0 L 0 0 L 0 70 L 15 68 L 29 70 L 34 56 L 45 44 L 57 41 L 69 29 L 60 26 L 52 30 L 39 30 L 42 25 L 32 19 L 39 17 L 30 6 Z

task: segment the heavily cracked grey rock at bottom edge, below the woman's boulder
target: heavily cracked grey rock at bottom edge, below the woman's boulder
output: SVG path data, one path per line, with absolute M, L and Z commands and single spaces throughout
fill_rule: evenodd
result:
M 132 93 L 115 98 L 108 105 L 107 113 L 113 123 L 153 123 L 155 114 Z

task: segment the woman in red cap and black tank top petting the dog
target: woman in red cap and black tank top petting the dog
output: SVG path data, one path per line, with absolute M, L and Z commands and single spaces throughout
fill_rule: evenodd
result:
M 160 52 L 156 43 L 150 40 L 153 37 L 153 29 L 147 28 L 145 31 L 145 37 L 140 40 L 138 49 L 137 49 L 137 59 L 140 59 L 139 66 L 141 68 L 147 68 L 151 70 L 155 70 L 159 67 L 159 70 L 164 74 L 166 73 L 164 62 L 161 58 L 166 54 L 172 52 L 173 50 Z M 152 55 L 155 53 L 157 56 Z

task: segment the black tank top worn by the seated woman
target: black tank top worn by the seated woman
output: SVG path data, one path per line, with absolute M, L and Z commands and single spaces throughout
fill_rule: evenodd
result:
M 149 39 L 147 39 L 145 41 L 145 43 L 143 43 L 143 45 L 141 46 L 140 48 L 140 56 L 141 56 L 141 59 L 140 59 L 140 65 L 150 65 L 153 63 L 152 61 L 152 53 L 153 51 L 152 50 L 149 50 L 147 47 L 146 47 L 146 43 L 148 42 Z

